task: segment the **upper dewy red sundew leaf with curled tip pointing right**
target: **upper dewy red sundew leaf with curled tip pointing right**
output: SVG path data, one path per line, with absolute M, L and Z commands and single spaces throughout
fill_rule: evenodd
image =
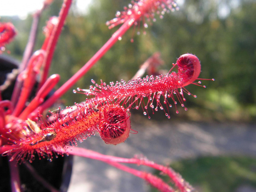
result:
M 171 72 L 175 67 L 178 68 L 178 72 Z M 169 104 L 167 98 L 171 97 L 176 107 L 177 102 L 174 96 L 176 95 L 181 106 L 184 107 L 183 102 L 185 98 L 183 96 L 183 87 L 193 83 L 198 78 L 201 71 L 201 64 L 196 56 L 185 54 L 179 57 L 173 68 L 166 75 L 156 76 L 156 78 L 154 78 L 154 76 L 147 76 L 146 78 L 131 80 L 128 83 L 125 81 L 117 81 L 116 84 L 114 84 L 112 82 L 110 85 L 101 81 L 100 85 L 95 84 L 94 87 L 90 87 L 90 90 L 78 88 L 78 91 L 83 91 L 82 93 L 88 96 L 90 95 L 91 97 L 95 96 L 97 100 L 121 104 L 125 106 L 126 109 L 139 109 L 139 107 L 142 107 L 145 115 L 147 114 L 148 106 L 155 111 L 158 110 L 158 107 L 164 109 L 164 106 L 166 106 L 165 110 L 167 111 L 164 111 L 166 116 L 170 118 L 168 107 L 172 106 Z M 95 83 L 95 81 L 92 82 Z M 178 89 L 180 89 L 180 91 Z M 187 92 L 187 90 L 185 90 L 185 92 Z M 187 93 L 191 95 L 189 92 Z M 164 104 L 161 104 L 161 96 L 164 97 Z M 148 100 L 145 101 L 145 98 Z M 154 101 L 156 101 L 155 106 Z M 187 110 L 187 108 L 185 108 L 185 110 Z M 177 110 L 176 112 L 178 113 Z

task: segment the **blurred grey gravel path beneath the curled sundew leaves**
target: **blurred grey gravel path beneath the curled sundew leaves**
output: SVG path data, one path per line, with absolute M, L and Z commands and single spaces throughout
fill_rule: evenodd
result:
M 137 118 L 137 119 L 136 119 Z M 143 122 L 143 123 L 142 123 Z M 98 136 L 79 146 L 102 154 L 132 158 L 143 154 L 149 160 L 167 165 L 171 161 L 200 155 L 256 156 L 256 125 L 239 123 L 190 123 L 134 117 L 125 143 L 106 145 Z M 133 166 L 140 169 L 140 167 Z M 143 170 L 151 171 L 142 167 Z M 149 186 L 140 178 L 124 173 L 100 161 L 74 157 L 68 192 L 147 192 Z

